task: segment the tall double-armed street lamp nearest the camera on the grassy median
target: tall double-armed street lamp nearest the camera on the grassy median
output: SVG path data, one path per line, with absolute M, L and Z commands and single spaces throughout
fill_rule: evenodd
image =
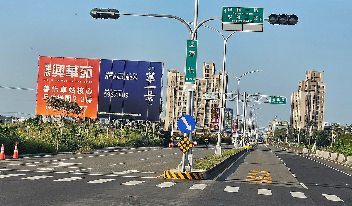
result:
M 187 22 L 188 24 L 193 24 L 193 22 Z M 214 31 L 216 31 L 218 34 L 221 35 L 222 40 L 224 40 L 224 55 L 222 58 L 222 80 L 221 80 L 221 92 L 220 92 L 220 115 L 219 115 L 219 119 L 220 119 L 220 124 L 219 124 L 219 133 L 218 133 L 218 142 L 216 143 L 216 148 L 215 148 L 215 154 L 216 155 L 221 155 L 221 143 L 220 143 L 220 138 L 221 138 L 221 130 L 222 130 L 222 113 L 224 113 L 224 87 L 225 87 L 225 57 L 226 57 L 226 43 L 228 38 L 230 38 L 230 36 L 236 32 L 231 32 L 231 34 L 229 34 L 226 38 L 224 37 L 224 35 L 222 35 L 221 32 L 219 32 L 217 29 L 210 27 L 210 26 L 206 26 L 206 25 L 201 25 L 201 26 L 205 26 L 207 28 L 213 29 Z M 193 97 L 192 97 L 193 98 Z

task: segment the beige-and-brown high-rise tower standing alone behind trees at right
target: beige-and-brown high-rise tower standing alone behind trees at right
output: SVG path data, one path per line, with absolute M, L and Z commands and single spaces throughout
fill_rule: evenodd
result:
M 291 95 L 290 125 L 301 128 L 305 122 L 314 120 L 319 130 L 324 129 L 325 89 L 324 72 L 308 71 L 306 79 L 298 81 L 298 91 Z

